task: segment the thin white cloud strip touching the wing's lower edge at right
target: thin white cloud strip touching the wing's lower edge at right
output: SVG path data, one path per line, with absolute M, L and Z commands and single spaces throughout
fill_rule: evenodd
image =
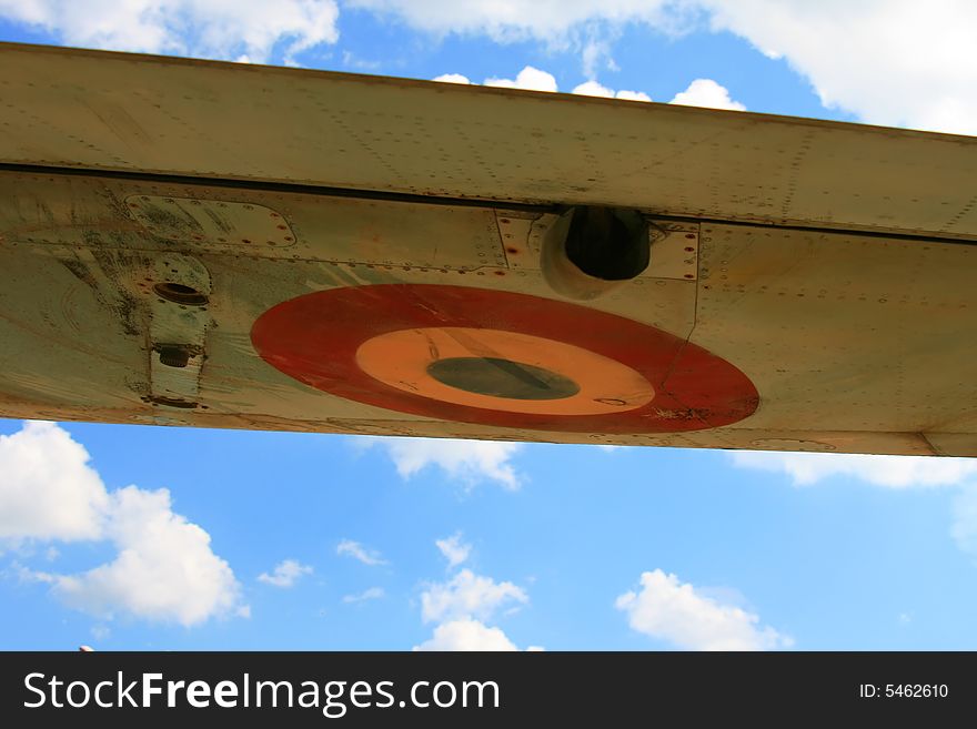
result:
M 835 476 L 849 476 L 890 488 L 953 486 L 977 474 L 977 460 L 971 458 L 761 450 L 737 450 L 732 457 L 736 466 L 787 474 L 798 486 Z

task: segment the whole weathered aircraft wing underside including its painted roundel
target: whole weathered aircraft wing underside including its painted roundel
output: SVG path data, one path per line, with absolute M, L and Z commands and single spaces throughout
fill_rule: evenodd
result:
M 975 181 L 965 136 L 0 44 L 0 415 L 977 455 Z

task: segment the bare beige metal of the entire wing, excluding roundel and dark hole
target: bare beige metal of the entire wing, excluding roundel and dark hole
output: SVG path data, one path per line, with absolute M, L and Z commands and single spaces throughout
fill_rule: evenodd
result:
M 973 139 L 9 44 L 0 88 L 2 416 L 977 455 Z M 555 215 L 515 203 L 574 202 L 664 232 L 587 305 L 732 362 L 755 414 L 655 435 L 442 422 L 313 389 L 251 344 L 263 312 L 338 286 L 556 298 L 538 263 Z M 167 281 L 205 307 L 160 298 Z M 161 364 L 169 342 L 194 347 L 188 367 Z

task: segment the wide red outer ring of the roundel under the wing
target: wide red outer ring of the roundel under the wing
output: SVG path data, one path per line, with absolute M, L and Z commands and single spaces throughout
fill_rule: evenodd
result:
M 364 342 L 426 327 L 514 332 L 590 350 L 641 374 L 654 397 L 622 413 L 506 412 L 417 395 L 360 368 L 356 353 Z M 677 433 L 736 423 L 758 403 L 739 369 L 673 334 L 576 304 L 486 288 L 377 284 L 315 292 L 262 314 L 251 341 L 265 362 L 312 387 L 442 421 L 567 433 Z

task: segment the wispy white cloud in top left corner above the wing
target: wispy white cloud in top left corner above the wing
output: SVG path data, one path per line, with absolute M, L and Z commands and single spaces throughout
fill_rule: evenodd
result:
M 258 63 L 339 39 L 334 0 L 0 0 L 0 18 L 68 45 Z

